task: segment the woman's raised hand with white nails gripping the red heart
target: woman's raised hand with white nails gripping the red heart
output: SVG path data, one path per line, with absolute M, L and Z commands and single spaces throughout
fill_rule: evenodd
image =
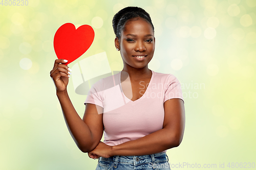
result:
M 67 85 L 69 83 L 70 78 L 69 75 L 71 75 L 69 71 L 71 71 L 71 69 L 67 65 L 61 64 L 67 62 L 68 61 L 64 59 L 56 59 L 54 62 L 53 69 L 50 71 L 50 77 L 52 78 L 55 84 L 57 92 L 67 90 Z

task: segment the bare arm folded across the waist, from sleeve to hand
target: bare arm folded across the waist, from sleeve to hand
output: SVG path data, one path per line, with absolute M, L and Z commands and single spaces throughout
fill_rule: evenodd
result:
M 96 148 L 88 152 L 88 155 L 90 158 L 108 158 L 114 155 L 133 156 L 159 153 L 178 147 L 183 138 L 184 128 L 184 103 L 181 99 L 170 99 L 164 103 L 163 129 L 115 146 L 99 142 Z

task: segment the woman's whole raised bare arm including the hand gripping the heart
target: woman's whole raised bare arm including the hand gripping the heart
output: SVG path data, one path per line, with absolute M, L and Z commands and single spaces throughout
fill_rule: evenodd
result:
M 61 105 L 68 130 L 77 147 L 82 152 L 92 151 L 99 143 L 103 134 L 103 108 L 94 104 L 86 104 L 83 119 L 77 114 L 67 92 L 69 67 L 63 59 L 56 59 L 50 76 L 56 87 L 56 95 Z

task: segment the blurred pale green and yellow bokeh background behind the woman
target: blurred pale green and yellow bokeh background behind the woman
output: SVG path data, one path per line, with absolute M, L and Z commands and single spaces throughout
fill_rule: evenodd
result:
M 0 5 L 0 169 L 95 169 L 97 160 L 69 134 L 50 78 L 53 37 L 66 22 L 91 25 L 92 46 L 69 67 L 106 52 L 111 69 L 121 70 L 112 18 L 126 6 L 152 17 L 156 50 L 148 68 L 175 75 L 183 86 L 185 132 L 180 146 L 167 151 L 169 163 L 219 169 L 255 162 L 255 0 L 27 3 Z M 69 96 L 82 116 L 86 95 L 75 93 L 71 79 Z

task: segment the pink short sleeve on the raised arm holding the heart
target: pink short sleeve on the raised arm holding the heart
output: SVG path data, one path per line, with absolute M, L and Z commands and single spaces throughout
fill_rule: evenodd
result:
M 92 85 L 87 94 L 86 101 L 84 101 L 84 105 L 86 105 L 86 103 L 91 103 L 103 108 L 103 90 L 101 90 L 102 86 L 102 79 Z

